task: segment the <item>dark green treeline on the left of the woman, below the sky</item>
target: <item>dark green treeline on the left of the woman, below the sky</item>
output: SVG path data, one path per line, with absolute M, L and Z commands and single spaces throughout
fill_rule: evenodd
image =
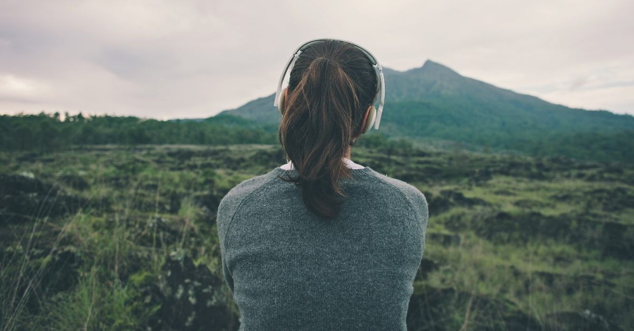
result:
M 99 144 L 273 144 L 277 132 L 237 116 L 200 121 L 159 121 L 132 116 L 60 113 L 1 115 L 0 149 L 55 151 Z

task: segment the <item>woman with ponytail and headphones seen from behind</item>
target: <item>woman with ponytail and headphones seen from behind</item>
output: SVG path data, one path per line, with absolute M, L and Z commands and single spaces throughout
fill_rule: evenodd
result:
M 236 185 L 218 207 L 240 330 L 406 330 L 427 201 L 350 159 L 375 122 L 382 69 L 333 39 L 302 45 L 289 66 L 278 87 L 288 163 Z

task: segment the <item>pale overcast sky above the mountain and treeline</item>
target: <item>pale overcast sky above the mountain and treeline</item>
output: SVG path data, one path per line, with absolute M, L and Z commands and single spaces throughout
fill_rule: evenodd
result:
M 394 70 L 432 59 L 634 115 L 632 13 L 631 0 L 0 0 L 0 114 L 205 118 L 275 92 L 295 48 L 331 37 Z

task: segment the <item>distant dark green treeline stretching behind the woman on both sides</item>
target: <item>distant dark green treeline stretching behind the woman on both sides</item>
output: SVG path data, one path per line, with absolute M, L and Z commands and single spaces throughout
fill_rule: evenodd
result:
M 394 122 L 399 121 L 403 122 L 403 118 L 394 118 Z M 409 121 L 423 137 L 463 143 L 467 149 L 484 147 L 491 151 L 518 151 L 531 156 L 634 162 L 634 130 L 626 128 L 611 132 L 574 132 L 562 128 L 509 129 L 505 132 L 486 121 L 479 123 L 474 120 L 469 128 L 434 126 L 435 121 L 430 122 Z M 401 135 L 394 134 L 393 130 L 386 133 L 388 135 L 382 132 L 364 135 L 360 145 L 387 149 L 411 147 L 408 139 L 417 138 L 406 130 L 402 130 Z M 81 113 L 64 116 L 60 113 L 0 115 L 2 151 L 49 152 L 71 146 L 100 144 L 278 144 L 277 134 L 277 124 L 259 123 L 226 113 L 204 120 L 171 121 L 133 116 L 83 116 Z

